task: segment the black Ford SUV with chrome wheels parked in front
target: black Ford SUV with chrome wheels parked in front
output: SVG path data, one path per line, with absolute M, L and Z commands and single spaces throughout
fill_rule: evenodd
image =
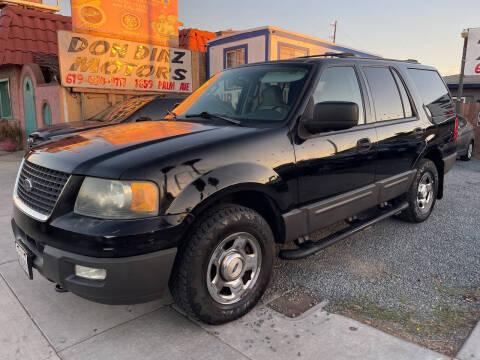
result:
M 30 278 L 35 268 L 107 304 L 169 286 L 188 314 L 224 323 L 258 302 L 277 246 L 298 259 L 388 216 L 426 220 L 457 132 L 442 78 L 415 61 L 345 54 L 227 70 L 163 121 L 32 150 L 14 191 L 19 261 Z

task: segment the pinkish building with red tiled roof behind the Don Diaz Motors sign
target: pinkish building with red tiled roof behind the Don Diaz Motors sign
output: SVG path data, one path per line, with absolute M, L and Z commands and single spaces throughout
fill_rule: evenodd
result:
M 63 87 L 60 30 L 72 30 L 71 17 L 0 4 L 0 121 L 21 127 L 23 145 L 44 125 L 85 120 L 129 97 L 148 94 Z M 192 90 L 206 81 L 206 42 L 215 36 L 196 29 L 181 31 L 180 47 L 192 53 Z

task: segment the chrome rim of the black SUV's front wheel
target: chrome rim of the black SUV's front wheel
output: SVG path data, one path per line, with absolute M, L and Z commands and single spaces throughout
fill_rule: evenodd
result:
M 256 284 L 262 265 L 258 240 L 249 233 L 235 233 L 218 244 L 207 268 L 210 296 L 223 305 L 240 301 Z

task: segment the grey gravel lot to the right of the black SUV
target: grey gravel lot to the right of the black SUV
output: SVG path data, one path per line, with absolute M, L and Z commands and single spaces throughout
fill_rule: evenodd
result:
M 480 161 L 457 162 L 445 181 L 424 223 L 391 218 L 307 259 L 278 260 L 267 297 L 303 287 L 329 311 L 454 355 L 480 319 Z

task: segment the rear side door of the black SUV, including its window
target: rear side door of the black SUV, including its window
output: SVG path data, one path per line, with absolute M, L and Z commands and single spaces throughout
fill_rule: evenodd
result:
M 375 181 L 380 201 L 406 191 L 413 164 L 425 148 L 425 124 L 417 116 L 400 72 L 390 66 L 363 66 L 377 125 L 378 154 Z

